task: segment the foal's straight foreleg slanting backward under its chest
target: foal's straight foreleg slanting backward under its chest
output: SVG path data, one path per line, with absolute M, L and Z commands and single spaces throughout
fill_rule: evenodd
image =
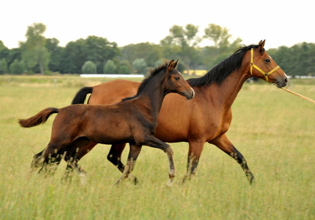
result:
M 123 175 L 116 181 L 116 185 L 120 184 L 122 181 L 124 181 L 126 179 L 126 177 L 132 172 L 135 162 L 137 160 L 137 157 L 140 154 L 142 146 L 139 145 L 135 145 L 135 144 L 130 144 L 130 151 L 129 151 L 129 155 L 128 155 L 128 159 L 127 159 L 127 164 L 125 166 L 125 169 L 123 171 Z M 132 175 L 133 177 L 133 175 Z M 134 179 L 134 184 L 136 184 L 136 179 Z

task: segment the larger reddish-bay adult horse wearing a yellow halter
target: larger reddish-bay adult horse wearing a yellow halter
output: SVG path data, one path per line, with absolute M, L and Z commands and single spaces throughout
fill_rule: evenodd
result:
M 189 79 L 195 98 L 189 102 L 176 94 L 165 97 L 155 136 L 165 142 L 188 142 L 188 166 L 186 178 L 194 173 L 205 142 L 214 144 L 233 157 L 243 168 L 250 183 L 254 180 L 246 159 L 233 146 L 225 132 L 231 120 L 231 106 L 244 82 L 250 77 L 262 78 L 278 87 L 286 86 L 284 71 L 264 49 L 265 41 L 258 45 L 242 46 L 230 57 L 214 66 L 202 77 Z M 72 104 L 84 103 L 91 94 L 89 104 L 112 104 L 136 93 L 139 83 L 114 80 L 94 87 L 82 88 Z M 87 154 L 96 143 L 89 143 L 78 152 L 78 159 Z M 112 145 L 108 159 L 123 172 L 121 154 L 125 144 Z

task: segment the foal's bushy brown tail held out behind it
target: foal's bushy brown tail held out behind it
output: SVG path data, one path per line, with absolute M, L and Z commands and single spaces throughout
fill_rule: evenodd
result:
M 36 115 L 28 119 L 19 119 L 19 124 L 21 127 L 32 127 L 43 124 L 47 121 L 49 116 L 54 113 L 58 113 L 58 108 L 45 108 L 41 110 Z

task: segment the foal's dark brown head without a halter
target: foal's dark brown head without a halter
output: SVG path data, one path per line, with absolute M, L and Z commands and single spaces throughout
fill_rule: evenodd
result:
M 189 84 L 185 81 L 182 74 L 175 69 L 177 66 L 178 60 L 174 62 L 172 60 L 168 63 L 165 71 L 165 78 L 162 83 L 162 87 L 166 93 L 177 93 L 184 95 L 187 99 L 191 99 L 194 96 L 193 89 L 189 86 Z

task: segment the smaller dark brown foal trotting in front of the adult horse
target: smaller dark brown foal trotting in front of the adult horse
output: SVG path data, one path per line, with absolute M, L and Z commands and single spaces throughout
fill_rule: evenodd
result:
M 119 183 L 132 172 L 142 145 L 147 145 L 167 154 L 169 181 L 172 182 L 175 176 L 173 151 L 153 134 L 158 126 L 158 113 L 166 94 L 177 93 L 187 99 L 194 96 L 192 88 L 175 69 L 177 62 L 172 60 L 169 64 L 156 68 L 140 84 L 137 94 L 122 102 L 113 105 L 78 104 L 60 109 L 46 108 L 29 119 L 20 119 L 22 127 L 32 127 L 46 122 L 51 114 L 58 113 L 52 126 L 50 142 L 45 150 L 34 156 L 32 165 L 35 168 L 43 167 L 49 160 L 60 161 L 60 155 L 63 155 L 72 169 L 77 170 L 80 176 L 85 176 L 85 171 L 73 159 L 81 147 L 91 141 L 102 144 L 129 143 L 127 165 L 117 181 Z

